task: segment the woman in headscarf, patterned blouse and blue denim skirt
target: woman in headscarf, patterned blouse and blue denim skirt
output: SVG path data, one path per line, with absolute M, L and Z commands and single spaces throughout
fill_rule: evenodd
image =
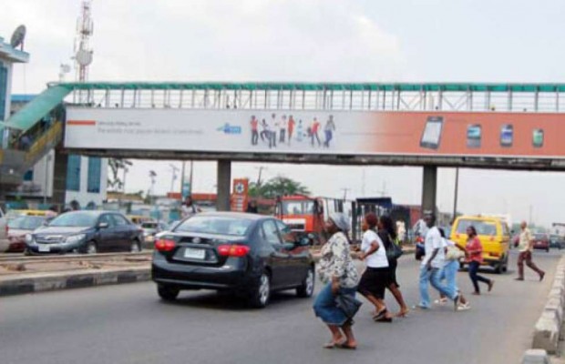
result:
M 325 230 L 331 238 L 322 247 L 322 258 L 317 265 L 318 277 L 325 287 L 315 299 L 313 310 L 332 333 L 331 341 L 324 345 L 326 349 L 357 348 L 353 319 L 348 318 L 335 301 L 338 294 L 354 298 L 359 280 L 349 249 L 349 229 L 348 218 L 342 213 L 332 214 L 325 223 Z

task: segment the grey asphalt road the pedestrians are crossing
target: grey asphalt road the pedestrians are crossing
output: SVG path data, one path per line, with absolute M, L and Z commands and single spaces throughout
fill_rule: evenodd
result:
M 365 303 L 354 327 L 355 351 L 322 349 L 329 335 L 313 316 L 312 299 L 292 293 L 262 310 L 209 291 L 163 303 L 150 282 L 0 298 L 0 362 L 519 363 L 559 258 L 558 252 L 535 254 L 548 271 L 542 283 L 531 271 L 524 282 L 513 280 L 515 271 L 488 274 L 496 279 L 493 292 L 470 297 L 466 312 L 448 305 L 376 324 Z M 410 306 L 417 303 L 417 271 L 412 257 L 401 259 L 398 277 Z M 471 291 L 467 273 L 458 280 Z

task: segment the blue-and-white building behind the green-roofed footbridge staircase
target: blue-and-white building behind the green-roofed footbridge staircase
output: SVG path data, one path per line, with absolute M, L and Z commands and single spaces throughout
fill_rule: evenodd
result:
M 26 106 L 36 95 L 11 96 L 11 114 Z M 27 171 L 17 194 L 24 199 L 49 200 L 53 196 L 55 151 L 49 152 Z M 107 199 L 108 159 L 71 155 L 67 166 L 65 202 L 77 201 L 81 207 L 100 206 Z

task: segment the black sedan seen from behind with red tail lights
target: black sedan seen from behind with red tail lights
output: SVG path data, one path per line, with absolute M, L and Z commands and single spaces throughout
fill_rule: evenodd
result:
M 215 289 L 263 308 L 276 290 L 296 289 L 299 297 L 311 297 L 314 262 L 308 239 L 296 241 L 280 220 L 212 212 L 190 217 L 159 237 L 152 277 L 165 300 L 177 298 L 182 289 Z

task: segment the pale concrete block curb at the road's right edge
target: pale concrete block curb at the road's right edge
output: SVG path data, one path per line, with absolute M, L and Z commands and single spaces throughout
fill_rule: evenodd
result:
M 549 354 L 558 354 L 560 340 L 565 339 L 563 313 L 565 311 L 565 257 L 560 259 L 553 279 L 548 301 L 534 328 L 533 349 L 545 350 Z M 525 362 L 525 361 L 524 361 Z M 549 361 L 528 361 L 528 363 Z

